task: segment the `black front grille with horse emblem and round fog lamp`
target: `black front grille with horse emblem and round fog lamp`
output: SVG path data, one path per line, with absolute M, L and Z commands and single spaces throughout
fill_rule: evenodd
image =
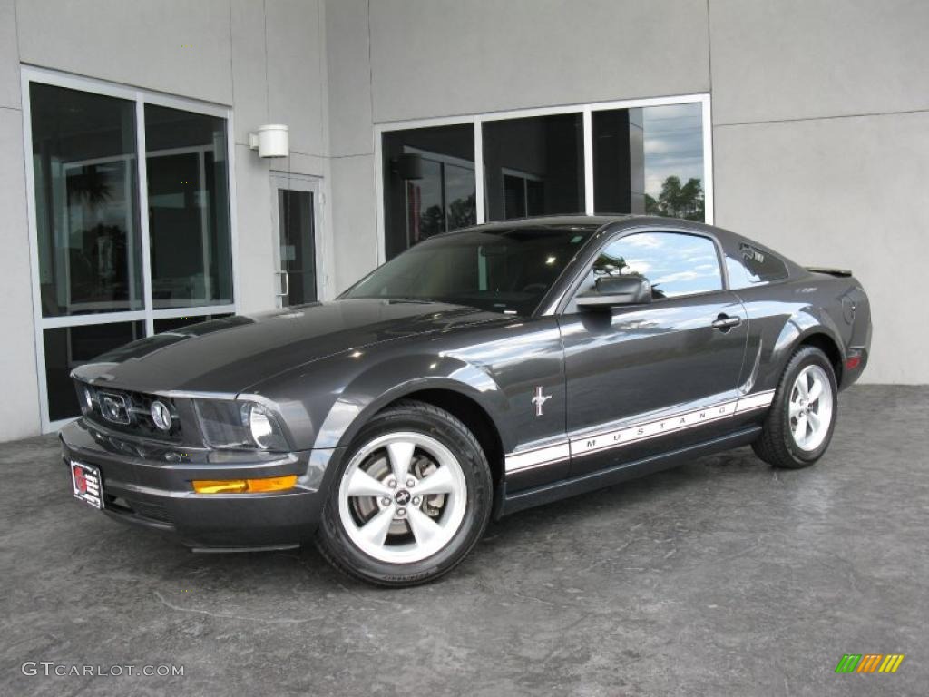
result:
M 77 384 L 77 391 L 77 398 L 84 408 L 85 417 L 100 426 L 157 441 L 183 440 L 174 400 L 144 392 L 98 388 L 84 383 Z M 89 405 L 86 402 L 85 391 L 90 396 Z M 151 418 L 151 402 L 155 400 L 163 402 L 171 412 L 171 429 L 168 431 L 155 426 Z

